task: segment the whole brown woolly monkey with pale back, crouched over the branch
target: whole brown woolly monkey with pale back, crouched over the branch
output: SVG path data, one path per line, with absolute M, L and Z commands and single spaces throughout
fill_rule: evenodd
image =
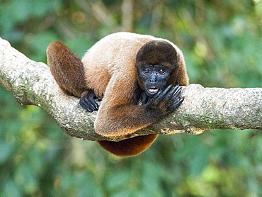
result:
M 93 45 L 82 61 L 56 41 L 47 47 L 47 63 L 64 93 L 80 97 L 86 111 L 98 110 L 94 126 L 103 136 L 128 135 L 164 118 L 183 101 L 178 84 L 188 85 L 181 50 L 150 35 L 113 33 Z M 96 98 L 103 98 L 101 106 Z M 156 136 L 99 144 L 125 157 L 146 150 Z

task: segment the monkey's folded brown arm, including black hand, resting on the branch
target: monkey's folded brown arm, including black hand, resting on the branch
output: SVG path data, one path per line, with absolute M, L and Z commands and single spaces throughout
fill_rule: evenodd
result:
M 121 79 L 118 83 L 110 81 L 108 84 L 108 86 L 115 84 L 112 90 L 121 89 L 123 92 L 120 93 L 121 95 L 110 90 L 106 92 L 95 121 L 95 130 L 98 134 L 104 136 L 132 134 L 175 111 L 183 101 L 183 99 L 178 99 L 181 89 L 178 90 L 178 86 L 169 86 L 144 105 L 136 105 L 135 101 L 131 99 L 135 97 L 132 94 L 135 92 L 132 91 L 132 85 L 128 87 L 121 81 Z

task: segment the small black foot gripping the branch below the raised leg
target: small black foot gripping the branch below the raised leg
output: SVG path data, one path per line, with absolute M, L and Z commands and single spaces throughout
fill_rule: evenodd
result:
M 98 111 L 99 106 L 95 99 L 97 99 L 97 97 L 93 90 L 86 90 L 81 94 L 79 101 L 80 106 L 88 112 Z

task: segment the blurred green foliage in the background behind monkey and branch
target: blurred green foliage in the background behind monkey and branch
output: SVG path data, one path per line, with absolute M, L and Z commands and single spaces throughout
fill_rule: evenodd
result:
M 123 30 L 122 1 L 97 2 L 2 0 L 0 36 L 32 60 L 46 62 L 53 40 L 82 57 Z M 176 43 L 190 83 L 261 87 L 261 1 L 134 2 L 132 31 Z M 122 159 L 69 137 L 3 88 L 0 106 L 0 196 L 262 196 L 261 131 L 159 136 Z

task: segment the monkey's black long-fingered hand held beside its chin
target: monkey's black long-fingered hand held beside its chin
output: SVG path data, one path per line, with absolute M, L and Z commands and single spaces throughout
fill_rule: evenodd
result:
M 159 91 L 149 99 L 146 104 L 148 108 L 153 109 L 159 115 L 166 115 L 175 111 L 183 102 L 185 97 L 180 98 L 182 88 L 179 85 L 168 86 L 164 91 Z

